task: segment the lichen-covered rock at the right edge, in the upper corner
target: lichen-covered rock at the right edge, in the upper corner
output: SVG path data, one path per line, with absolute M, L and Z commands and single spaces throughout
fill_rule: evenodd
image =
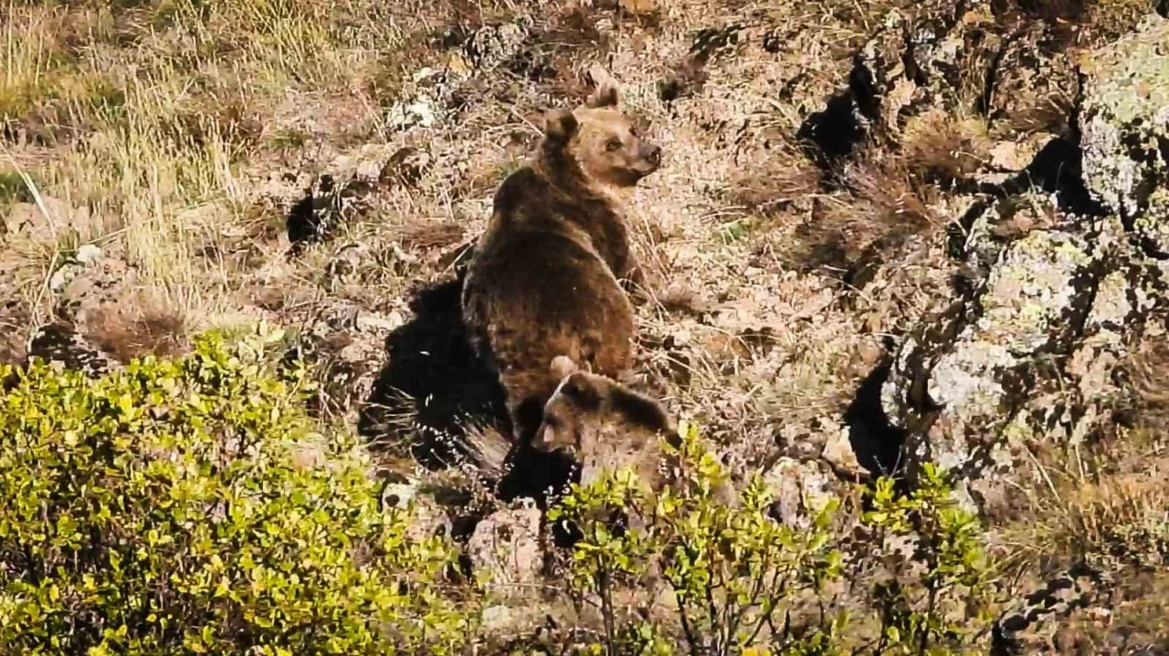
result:
M 1147 251 L 1169 257 L 1169 21 L 1150 15 L 1081 72 L 1085 182 Z

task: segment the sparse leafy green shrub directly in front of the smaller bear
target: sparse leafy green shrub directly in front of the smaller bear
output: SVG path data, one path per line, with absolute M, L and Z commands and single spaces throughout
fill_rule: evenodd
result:
M 758 475 L 726 505 L 714 490 L 726 475 L 706 452 L 694 427 L 680 432 L 682 445 L 663 449 L 679 462 L 673 480 L 653 494 L 628 469 L 607 472 L 576 486 L 549 518 L 576 524 L 583 538 L 575 545 L 569 582 L 596 599 L 604 619 L 604 642 L 595 652 L 741 654 L 769 644 L 788 654 L 828 654 L 817 645 L 831 641 L 841 619 L 822 617 L 796 635 L 776 629 L 782 615 L 803 594 L 816 595 L 839 574 L 839 553 L 831 545 L 829 504 L 807 529 L 767 516 L 772 495 Z M 615 531 L 611 511 L 632 517 Z M 620 535 L 618 535 L 620 533 Z M 637 587 L 660 575 L 677 601 L 676 617 L 622 616 L 614 602 L 620 586 Z M 790 627 L 789 627 L 790 628 Z

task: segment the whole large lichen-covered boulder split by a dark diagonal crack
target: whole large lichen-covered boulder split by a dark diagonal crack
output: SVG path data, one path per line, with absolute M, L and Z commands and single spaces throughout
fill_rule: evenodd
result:
M 1009 203 L 983 221 L 1011 218 Z M 1028 203 L 1022 203 L 1028 204 Z M 1161 265 L 1116 217 L 1050 210 L 1051 225 L 1007 239 L 968 298 L 901 344 L 881 390 L 908 463 L 936 462 L 984 510 L 1042 444 L 1085 441 L 1113 425 L 1128 390 L 1116 372 L 1150 313 L 1165 305 Z

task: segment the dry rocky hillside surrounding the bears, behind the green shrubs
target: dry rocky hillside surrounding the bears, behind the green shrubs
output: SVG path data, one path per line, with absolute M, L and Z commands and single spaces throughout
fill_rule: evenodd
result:
M 779 522 L 844 500 L 858 552 L 856 483 L 950 472 L 1001 566 L 987 649 L 1169 650 L 1165 2 L 8 11 L 0 362 L 101 374 L 283 326 L 311 411 L 476 566 L 538 585 L 487 546 L 534 559 L 538 511 L 426 490 L 463 484 L 500 410 L 461 263 L 600 63 L 664 151 L 631 208 L 641 389 L 762 474 Z

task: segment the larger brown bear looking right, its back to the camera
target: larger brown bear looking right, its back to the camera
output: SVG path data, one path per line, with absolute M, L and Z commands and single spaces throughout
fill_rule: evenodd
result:
M 549 358 L 615 377 L 632 364 L 634 310 L 618 279 L 639 274 L 621 196 L 657 169 L 660 151 L 616 102 L 603 84 L 584 106 L 549 113 L 533 163 L 496 193 L 469 265 L 463 319 L 499 374 L 520 442 L 560 383 Z

